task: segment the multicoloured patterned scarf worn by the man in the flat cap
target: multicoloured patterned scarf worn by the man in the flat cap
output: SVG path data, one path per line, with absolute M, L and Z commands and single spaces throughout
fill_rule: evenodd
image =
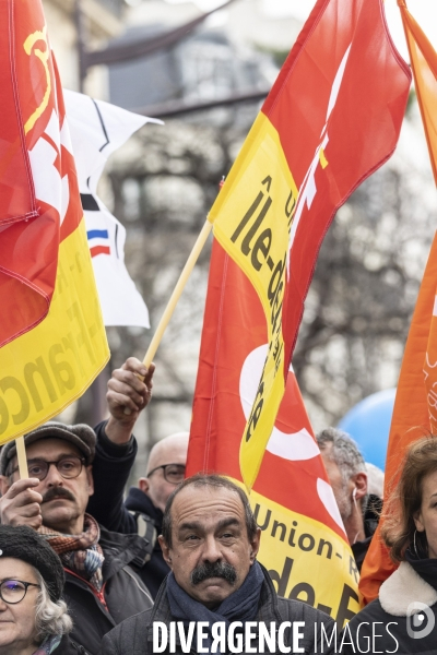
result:
M 85 514 L 84 531 L 79 535 L 64 535 L 44 525 L 38 532 L 59 555 L 67 569 L 87 580 L 97 592 L 102 591 L 105 556 L 98 544 L 101 528 L 93 516 Z

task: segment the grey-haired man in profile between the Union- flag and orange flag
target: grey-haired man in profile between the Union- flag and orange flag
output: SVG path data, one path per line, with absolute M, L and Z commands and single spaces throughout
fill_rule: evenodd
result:
M 366 464 L 357 444 L 346 432 L 327 428 L 316 439 L 361 571 L 378 525 L 381 499 L 368 495 Z

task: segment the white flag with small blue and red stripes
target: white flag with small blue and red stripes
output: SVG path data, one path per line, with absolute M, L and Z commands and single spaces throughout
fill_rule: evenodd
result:
M 105 325 L 150 327 L 149 311 L 125 265 L 126 229 L 97 196 L 108 156 L 146 122 L 162 121 L 63 92 L 79 190 Z

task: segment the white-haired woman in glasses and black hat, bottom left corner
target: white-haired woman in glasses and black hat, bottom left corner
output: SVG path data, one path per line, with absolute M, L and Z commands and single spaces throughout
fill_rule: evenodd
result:
M 87 655 L 68 635 L 62 563 L 32 528 L 0 525 L 0 655 Z

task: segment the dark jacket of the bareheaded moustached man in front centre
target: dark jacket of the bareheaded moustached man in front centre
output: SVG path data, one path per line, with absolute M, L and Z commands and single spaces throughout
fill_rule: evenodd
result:
M 304 621 L 305 628 L 300 629 L 304 632 L 304 639 L 299 642 L 299 646 L 305 648 L 305 653 L 307 655 L 311 655 L 312 653 L 324 653 L 328 655 L 333 653 L 331 646 L 320 647 L 320 628 L 323 624 L 326 632 L 330 635 L 334 629 L 334 621 L 322 611 L 314 609 L 299 600 L 280 598 L 274 591 L 265 569 L 263 569 L 263 573 L 264 583 L 261 590 L 257 621 L 263 621 L 268 627 L 270 627 L 271 621 L 274 621 L 276 626 L 283 621 Z M 160 588 L 154 607 L 137 617 L 127 619 L 111 630 L 102 642 L 101 655 L 152 655 L 153 622 L 163 621 L 168 627 L 172 620 L 174 619 L 172 618 L 168 605 L 166 582 L 164 582 Z M 193 620 L 196 620 L 196 617 L 193 617 Z M 315 629 L 315 626 L 317 626 L 317 629 Z M 317 634 L 316 641 L 315 634 Z M 284 641 L 288 645 L 292 645 L 292 631 L 290 629 L 285 631 Z M 253 643 L 257 643 L 257 641 Z M 180 643 L 176 641 L 176 654 L 181 655 Z M 196 644 L 193 646 L 191 653 L 196 653 Z M 168 652 L 167 650 L 164 653 L 167 654 Z M 277 647 L 275 652 L 280 652 Z

